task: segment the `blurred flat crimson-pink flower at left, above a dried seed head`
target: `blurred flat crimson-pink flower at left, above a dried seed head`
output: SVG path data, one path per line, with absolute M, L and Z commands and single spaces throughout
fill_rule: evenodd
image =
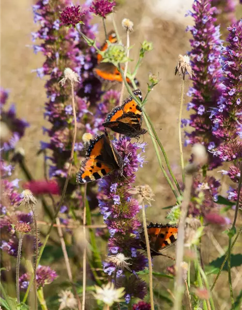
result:
M 56 181 L 30 181 L 25 183 L 23 187 L 25 189 L 30 189 L 34 195 L 60 195 L 60 188 Z

